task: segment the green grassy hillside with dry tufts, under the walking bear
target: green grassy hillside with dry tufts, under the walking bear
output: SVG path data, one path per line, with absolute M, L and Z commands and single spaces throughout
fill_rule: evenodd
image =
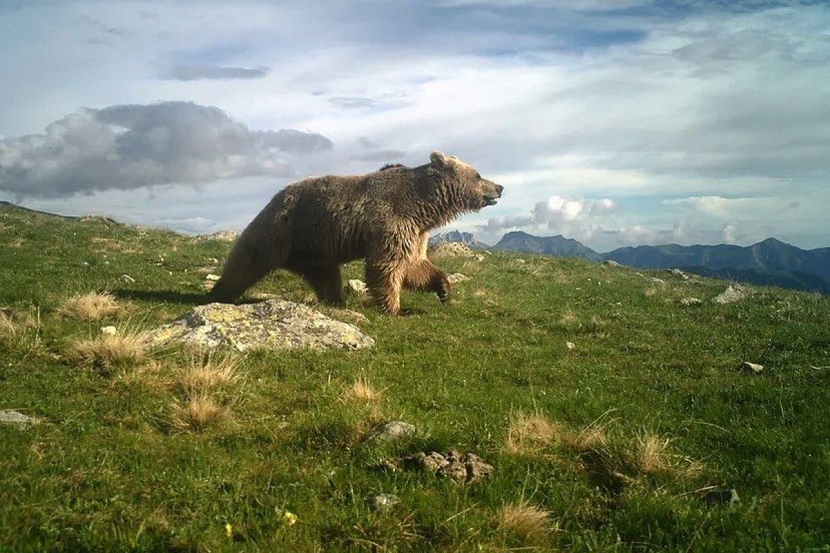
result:
M 0 551 L 830 543 L 830 298 L 749 288 L 720 305 L 720 281 L 496 253 L 440 262 L 471 277 L 449 306 L 407 293 L 408 315 L 390 318 L 350 298 L 368 350 L 227 354 L 213 369 L 198 352 L 139 350 L 105 364 L 82 341 L 199 303 L 229 245 L 9 209 L 0 245 L 0 409 L 39 419 L 0 424 Z M 90 291 L 110 291 L 114 311 L 80 319 L 67 299 Z M 263 292 L 310 294 L 285 273 Z M 683 306 L 691 296 L 703 303 Z M 200 370 L 216 410 L 196 424 Z M 417 434 L 365 443 L 383 420 Z M 461 486 L 378 468 L 448 449 L 495 473 Z M 378 509 L 379 493 L 400 502 Z

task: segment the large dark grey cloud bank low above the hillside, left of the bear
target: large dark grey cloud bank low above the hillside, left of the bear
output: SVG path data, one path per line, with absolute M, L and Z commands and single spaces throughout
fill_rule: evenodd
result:
M 291 175 L 291 156 L 329 150 L 317 133 L 248 129 L 191 102 L 83 109 L 42 134 L 0 140 L 0 190 L 61 197 L 113 188 Z

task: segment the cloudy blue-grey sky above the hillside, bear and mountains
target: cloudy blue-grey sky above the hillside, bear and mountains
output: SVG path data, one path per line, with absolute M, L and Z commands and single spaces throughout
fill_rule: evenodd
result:
M 830 246 L 830 5 L 0 0 L 0 200 L 188 233 L 452 153 L 444 230 Z

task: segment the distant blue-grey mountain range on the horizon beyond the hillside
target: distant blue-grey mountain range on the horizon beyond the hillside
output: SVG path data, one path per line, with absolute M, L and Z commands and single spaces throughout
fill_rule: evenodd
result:
M 578 240 L 562 235 L 535 236 L 520 230 L 508 232 L 491 246 L 484 245 L 470 233 L 457 230 L 436 235 L 431 240 L 440 241 L 459 241 L 477 249 L 577 257 L 590 261 L 613 260 L 642 269 L 677 268 L 720 279 L 830 293 L 830 248 L 802 250 L 774 238 L 746 247 L 728 244 L 638 245 L 607 253 L 598 253 Z

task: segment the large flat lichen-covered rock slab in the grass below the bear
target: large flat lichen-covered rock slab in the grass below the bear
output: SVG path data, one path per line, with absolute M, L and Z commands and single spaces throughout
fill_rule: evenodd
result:
M 157 344 L 188 342 L 208 349 L 225 345 L 240 352 L 251 347 L 357 350 L 374 346 L 374 339 L 358 327 L 282 299 L 242 305 L 208 303 L 157 328 L 150 339 Z

